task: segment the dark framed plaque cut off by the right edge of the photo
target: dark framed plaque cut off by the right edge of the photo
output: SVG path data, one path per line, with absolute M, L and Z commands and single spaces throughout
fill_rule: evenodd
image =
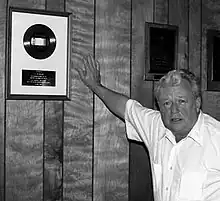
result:
M 220 91 L 220 30 L 207 30 L 207 90 Z

